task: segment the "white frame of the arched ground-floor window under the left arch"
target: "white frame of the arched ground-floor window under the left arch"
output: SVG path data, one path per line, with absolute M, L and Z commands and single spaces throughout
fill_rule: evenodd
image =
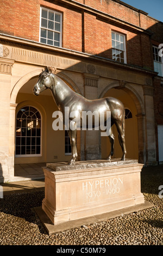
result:
M 33 108 L 35 108 L 35 109 L 37 109 L 36 107 L 34 107 L 34 106 L 31 106 L 31 105 L 25 105 L 25 106 L 22 106 L 20 109 L 18 109 L 18 111 L 17 111 L 17 113 L 16 113 L 16 120 L 17 120 L 17 114 L 18 114 L 18 112 L 23 108 L 23 107 L 33 107 Z M 41 116 L 41 127 L 40 127 L 40 129 L 41 129 L 41 134 L 40 134 L 40 154 L 24 154 L 24 155 L 16 155 L 16 122 L 15 122 L 15 157 L 17 157 L 17 158 L 21 158 L 21 157 L 40 157 L 40 156 L 42 156 L 42 114 L 41 114 L 41 112 L 40 112 L 40 110 L 39 109 L 37 109 L 37 111 L 40 113 L 40 116 Z M 22 137 L 22 136 L 21 136 Z M 27 137 L 27 136 L 24 136 L 24 137 Z

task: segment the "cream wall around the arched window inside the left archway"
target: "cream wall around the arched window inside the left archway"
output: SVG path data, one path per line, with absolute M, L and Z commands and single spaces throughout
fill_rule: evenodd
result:
M 70 156 L 65 156 L 65 132 L 54 131 L 52 114 L 58 111 L 52 96 L 18 93 L 16 103 L 16 114 L 20 107 L 32 105 L 36 107 L 42 116 L 42 156 L 40 157 L 15 157 L 15 163 L 32 162 L 57 162 L 68 161 Z M 56 159 L 56 156 L 58 157 Z M 55 157 L 55 158 L 54 158 Z

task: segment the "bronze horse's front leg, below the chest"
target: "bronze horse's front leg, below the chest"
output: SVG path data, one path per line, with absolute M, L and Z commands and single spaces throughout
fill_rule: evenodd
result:
M 68 135 L 70 136 L 70 142 L 71 142 L 71 160 L 68 162 L 69 165 L 72 165 L 76 162 L 76 159 L 78 157 L 77 154 L 77 147 L 76 147 L 76 135 L 77 130 L 69 130 Z

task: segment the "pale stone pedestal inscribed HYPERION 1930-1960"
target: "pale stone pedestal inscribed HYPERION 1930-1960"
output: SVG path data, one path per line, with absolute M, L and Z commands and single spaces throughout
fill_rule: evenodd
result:
M 136 160 L 48 163 L 42 210 L 54 225 L 145 203 Z

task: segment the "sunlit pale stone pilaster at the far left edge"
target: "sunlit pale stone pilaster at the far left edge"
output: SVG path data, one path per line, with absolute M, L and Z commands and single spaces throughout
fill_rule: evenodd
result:
M 9 134 L 10 134 L 10 88 L 11 71 L 14 61 L 1 58 L 0 60 L 0 182 L 8 181 L 10 172 Z M 15 120 L 14 120 L 15 124 Z

